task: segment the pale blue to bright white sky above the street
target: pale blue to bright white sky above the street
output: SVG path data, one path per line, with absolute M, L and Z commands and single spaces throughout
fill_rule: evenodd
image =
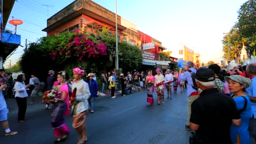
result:
M 17 0 L 9 20 L 20 19 L 17 26 L 21 45 L 5 61 L 15 64 L 28 43 L 46 36 L 42 29 L 47 19 L 74 0 Z M 115 12 L 115 0 L 93 0 Z M 229 32 L 237 21 L 237 11 L 246 0 L 117 0 L 117 14 L 137 25 L 138 30 L 162 42 L 177 56 L 181 45 L 200 54 L 202 62 L 222 60 L 223 33 Z M 44 5 L 51 5 L 47 6 Z M 9 21 L 8 20 L 8 21 Z M 7 23 L 6 29 L 14 31 Z

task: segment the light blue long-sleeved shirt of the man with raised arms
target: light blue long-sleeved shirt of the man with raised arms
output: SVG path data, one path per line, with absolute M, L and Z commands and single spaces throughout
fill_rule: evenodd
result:
M 197 70 L 194 69 L 193 67 L 190 68 L 190 70 L 192 72 L 197 72 Z M 188 71 L 184 72 L 183 75 L 179 76 L 179 81 L 184 82 L 186 80 L 187 80 L 187 96 L 190 96 L 191 93 L 194 93 L 194 92 L 197 92 L 197 91 L 192 87 L 192 85 L 194 85 L 194 84 L 193 84 L 193 80 L 192 80 L 192 77 L 191 77 L 191 73 L 188 72 Z

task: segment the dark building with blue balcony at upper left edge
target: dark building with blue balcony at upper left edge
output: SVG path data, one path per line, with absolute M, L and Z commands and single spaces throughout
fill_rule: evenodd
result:
M 0 69 L 3 62 L 21 44 L 21 36 L 5 29 L 15 0 L 0 0 Z

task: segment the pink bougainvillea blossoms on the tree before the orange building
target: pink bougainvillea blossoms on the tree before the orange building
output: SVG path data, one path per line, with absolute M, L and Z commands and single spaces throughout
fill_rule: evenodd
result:
M 69 58 L 83 59 L 96 58 L 107 55 L 107 46 L 94 39 L 94 37 L 75 31 L 66 40 L 57 40 L 53 47 L 49 48 L 49 56 L 59 62 Z

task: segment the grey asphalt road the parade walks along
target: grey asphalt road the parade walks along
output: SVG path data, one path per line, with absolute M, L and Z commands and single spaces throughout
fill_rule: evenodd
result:
M 156 93 L 154 98 L 156 102 Z M 149 106 L 146 100 L 146 91 L 115 99 L 110 96 L 96 99 L 95 113 L 87 115 L 87 144 L 188 144 L 190 132 L 184 128 L 186 94 L 173 93 L 173 99 L 166 100 L 165 106 Z M 15 99 L 7 101 L 10 128 L 19 133 L 13 136 L 0 133 L 1 144 L 51 144 L 56 140 L 51 129 L 51 110 L 45 110 L 39 101 L 27 106 L 27 121 L 23 123 L 17 121 Z M 76 144 L 71 116 L 66 117 L 66 123 L 71 132 L 64 144 Z

